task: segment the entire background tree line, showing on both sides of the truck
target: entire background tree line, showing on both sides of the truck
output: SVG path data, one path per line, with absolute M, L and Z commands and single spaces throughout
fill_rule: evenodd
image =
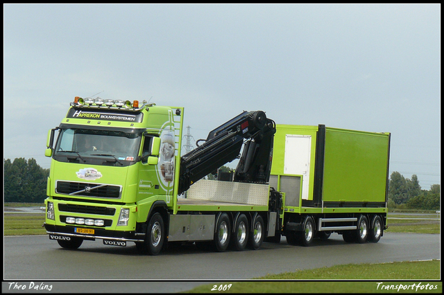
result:
M 43 203 L 46 199 L 46 181 L 49 169 L 41 168 L 35 159 L 14 161 L 3 159 L 4 202 Z M 223 166 L 223 172 L 230 168 Z M 211 176 L 211 175 L 210 175 Z M 214 176 L 210 177 L 214 179 Z M 388 183 L 388 207 L 420 210 L 439 210 L 441 204 L 440 185 L 422 190 L 418 177 L 406 179 L 400 172 L 393 172 Z

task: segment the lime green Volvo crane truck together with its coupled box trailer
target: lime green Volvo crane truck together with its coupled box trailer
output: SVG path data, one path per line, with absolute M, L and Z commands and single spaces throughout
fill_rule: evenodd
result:
M 76 97 L 46 142 L 49 238 L 157 255 L 169 242 L 242 251 L 332 232 L 377 242 L 386 229 L 390 134 L 243 111 L 181 155 L 183 118 L 183 107 Z M 205 179 L 234 159 L 234 172 Z

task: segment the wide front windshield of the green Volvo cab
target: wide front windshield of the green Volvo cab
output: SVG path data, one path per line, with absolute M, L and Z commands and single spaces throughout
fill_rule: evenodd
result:
M 141 135 L 119 130 L 60 129 L 54 159 L 128 166 L 128 162 L 137 161 Z

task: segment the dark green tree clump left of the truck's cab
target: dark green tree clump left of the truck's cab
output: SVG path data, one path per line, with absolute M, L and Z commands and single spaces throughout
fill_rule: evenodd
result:
M 4 202 L 43 203 L 49 169 L 40 167 L 33 158 L 3 161 Z

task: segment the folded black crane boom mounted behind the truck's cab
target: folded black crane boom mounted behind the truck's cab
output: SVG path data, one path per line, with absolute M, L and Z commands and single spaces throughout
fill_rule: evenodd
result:
M 194 182 L 237 159 L 244 140 L 244 151 L 234 181 L 267 183 L 275 132 L 274 121 L 266 118 L 264 111 L 244 111 L 212 130 L 202 145 L 180 159 L 178 193 L 185 192 Z

